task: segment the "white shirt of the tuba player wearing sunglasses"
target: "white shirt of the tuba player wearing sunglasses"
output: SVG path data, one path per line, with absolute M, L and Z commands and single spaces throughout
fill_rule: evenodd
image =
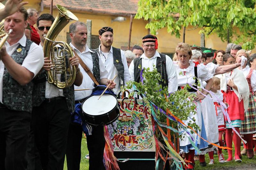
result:
M 43 49 L 42 44 L 39 44 L 39 47 Z M 58 80 L 60 80 L 61 74 L 58 74 Z M 48 81 L 45 82 L 45 98 L 53 98 L 58 96 L 64 96 L 63 90 L 58 89 L 54 85 L 48 83 Z

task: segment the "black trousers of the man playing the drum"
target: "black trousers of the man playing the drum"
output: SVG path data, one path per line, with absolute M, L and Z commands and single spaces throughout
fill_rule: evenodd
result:
M 81 141 L 83 130 L 81 126 L 69 125 L 67 145 L 68 170 L 79 170 L 81 160 Z M 92 135 L 86 136 L 89 151 L 89 170 L 105 170 L 103 153 L 105 148 L 104 129 L 102 126 L 93 127 Z

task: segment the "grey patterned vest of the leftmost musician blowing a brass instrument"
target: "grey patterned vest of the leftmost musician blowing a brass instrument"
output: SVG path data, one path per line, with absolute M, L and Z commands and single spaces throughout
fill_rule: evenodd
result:
M 16 50 L 11 55 L 12 59 L 22 65 L 24 59 L 28 55 L 28 51 L 32 41 L 26 41 L 26 47 L 19 45 Z M 21 52 L 17 52 L 17 49 L 21 48 Z M 20 85 L 8 72 L 6 67 L 4 67 L 4 77 L 3 77 L 3 104 L 11 109 L 18 111 L 32 111 L 32 90 L 33 83 L 29 82 L 27 85 Z

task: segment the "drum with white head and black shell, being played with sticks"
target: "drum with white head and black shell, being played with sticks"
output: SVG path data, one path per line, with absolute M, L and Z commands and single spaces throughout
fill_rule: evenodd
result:
M 85 122 L 94 126 L 105 126 L 115 122 L 119 117 L 116 96 L 103 94 L 100 99 L 99 97 L 99 95 L 91 95 L 84 100 L 82 110 Z

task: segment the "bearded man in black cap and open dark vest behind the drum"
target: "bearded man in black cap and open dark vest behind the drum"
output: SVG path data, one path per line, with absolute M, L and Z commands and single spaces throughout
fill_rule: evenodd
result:
M 99 39 L 100 46 L 96 51 L 100 54 L 100 58 L 108 70 L 108 79 L 113 79 L 117 75 L 116 88 L 113 91 L 118 94 L 121 91 L 121 86 L 131 80 L 124 51 L 112 47 L 113 29 L 109 26 L 100 28 Z

